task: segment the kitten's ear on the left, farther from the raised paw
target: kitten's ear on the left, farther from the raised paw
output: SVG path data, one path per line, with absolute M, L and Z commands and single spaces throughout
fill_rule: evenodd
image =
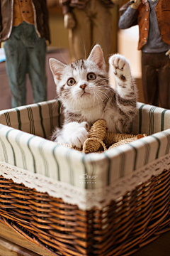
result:
M 64 70 L 66 65 L 61 63 L 59 60 L 56 60 L 55 58 L 50 58 L 49 63 L 52 75 L 54 75 L 55 79 L 60 80 L 62 71 Z

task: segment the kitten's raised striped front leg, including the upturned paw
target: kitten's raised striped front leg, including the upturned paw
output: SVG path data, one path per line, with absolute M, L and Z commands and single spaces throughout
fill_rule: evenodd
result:
M 137 89 L 130 72 L 130 64 L 123 55 L 111 56 L 109 63 L 117 82 L 118 129 L 120 132 L 127 132 L 130 122 L 135 117 Z

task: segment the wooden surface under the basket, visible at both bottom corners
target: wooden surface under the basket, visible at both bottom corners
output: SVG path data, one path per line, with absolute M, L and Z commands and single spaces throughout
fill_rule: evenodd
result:
M 170 231 L 145 245 L 132 256 L 169 256 L 169 239 Z M 0 223 L 0 256 L 52 256 L 52 254 L 33 242 L 25 240 L 7 225 Z

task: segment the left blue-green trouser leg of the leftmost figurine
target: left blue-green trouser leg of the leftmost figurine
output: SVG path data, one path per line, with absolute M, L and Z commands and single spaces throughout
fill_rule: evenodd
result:
M 12 107 L 26 105 L 27 53 L 21 33 L 21 25 L 13 27 L 11 37 L 4 43 L 6 72 L 11 88 Z

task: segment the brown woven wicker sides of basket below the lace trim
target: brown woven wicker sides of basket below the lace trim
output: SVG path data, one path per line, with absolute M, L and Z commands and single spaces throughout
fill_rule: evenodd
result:
M 170 171 L 98 210 L 0 178 L 0 221 L 52 255 L 131 255 L 170 230 Z

